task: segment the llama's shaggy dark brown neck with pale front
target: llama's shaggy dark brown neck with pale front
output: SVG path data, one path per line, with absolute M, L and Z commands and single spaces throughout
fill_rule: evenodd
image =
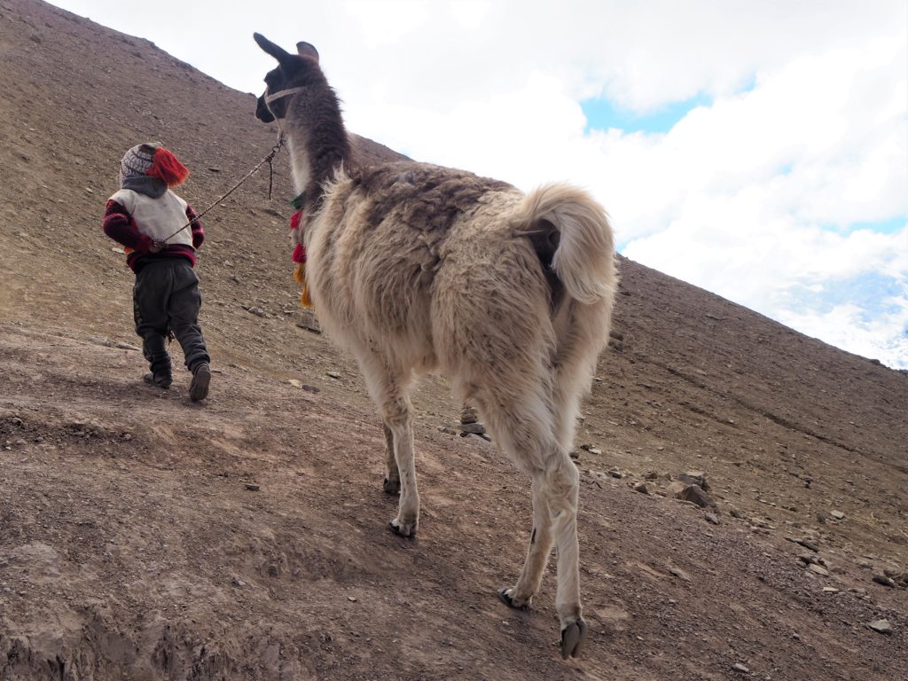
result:
M 293 184 L 305 194 L 307 210 L 317 210 L 325 184 L 341 165 L 350 163 L 350 142 L 341 118 L 341 107 L 330 87 L 312 88 L 294 98 L 285 133 L 291 154 Z

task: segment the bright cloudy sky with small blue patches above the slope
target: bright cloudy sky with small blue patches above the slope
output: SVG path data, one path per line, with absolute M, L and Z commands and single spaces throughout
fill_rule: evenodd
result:
M 252 32 L 305 40 L 351 131 L 577 184 L 631 260 L 908 369 L 905 0 L 53 4 L 254 94 Z

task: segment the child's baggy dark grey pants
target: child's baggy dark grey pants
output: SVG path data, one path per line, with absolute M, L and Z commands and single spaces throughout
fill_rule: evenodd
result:
M 135 332 L 142 338 L 143 355 L 156 376 L 171 373 L 168 329 L 183 347 L 187 369 L 194 372 L 200 364 L 210 361 L 199 326 L 201 307 L 199 278 L 185 258 L 148 262 L 135 275 Z

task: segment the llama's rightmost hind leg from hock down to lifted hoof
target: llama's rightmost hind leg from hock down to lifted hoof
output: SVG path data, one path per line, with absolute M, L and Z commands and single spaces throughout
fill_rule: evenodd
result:
M 587 623 L 580 606 L 579 543 L 577 541 L 577 467 L 560 450 L 546 475 L 548 512 L 558 547 L 558 591 L 555 608 L 561 621 L 561 656 L 576 657 L 587 637 Z

